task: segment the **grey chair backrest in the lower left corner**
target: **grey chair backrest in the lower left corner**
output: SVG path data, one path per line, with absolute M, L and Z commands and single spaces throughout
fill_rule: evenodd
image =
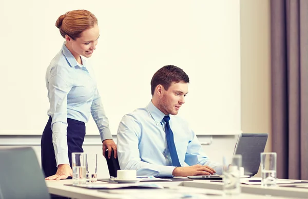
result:
M 0 199 L 50 199 L 31 147 L 0 149 Z

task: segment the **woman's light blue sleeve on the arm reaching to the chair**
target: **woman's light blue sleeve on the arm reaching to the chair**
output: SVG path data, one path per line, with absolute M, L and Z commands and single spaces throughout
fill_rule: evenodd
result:
M 98 89 L 96 89 L 93 102 L 91 105 L 91 115 L 98 126 L 100 131 L 101 140 L 112 139 L 112 135 L 109 129 L 109 120 L 106 116 L 105 109 L 99 95 Z

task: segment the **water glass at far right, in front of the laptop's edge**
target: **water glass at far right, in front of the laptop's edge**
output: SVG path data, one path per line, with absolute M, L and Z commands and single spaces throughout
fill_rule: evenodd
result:
M 263 187 L 276 186 L 277 154 L 275 152 L 261 153 L 261 185 Z

